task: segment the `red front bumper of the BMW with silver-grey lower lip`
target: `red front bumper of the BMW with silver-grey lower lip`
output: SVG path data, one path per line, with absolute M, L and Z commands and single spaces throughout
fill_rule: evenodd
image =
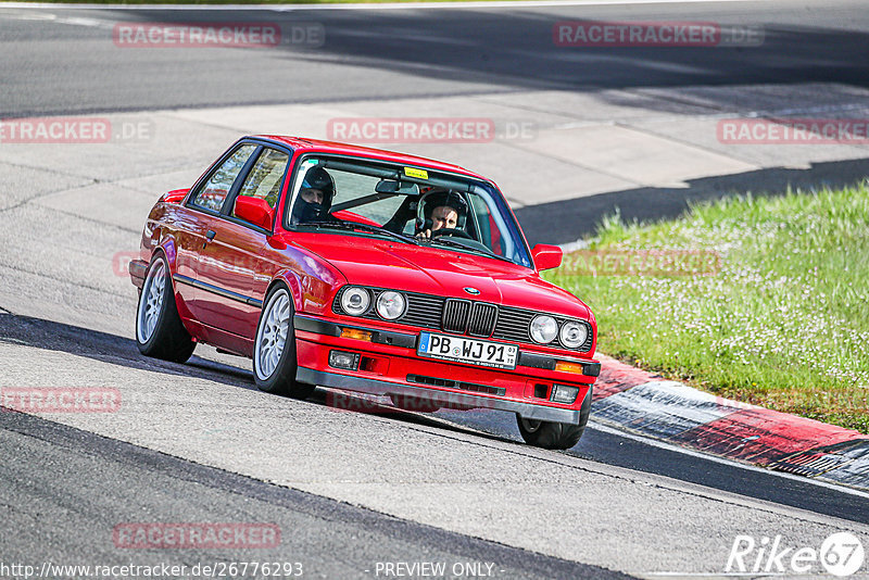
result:
M 304 315 L 295 315 L 293 324 L 299 362 L 297 380 L 376 395 L 417 398 L 442 406 L 506 411 L 527 419 L 576 425 L 582 401 L 600 371 L 596 361 L 532 353 L 521 346 L 515 369 L 434 361 L 417 355 L 418 333 Z M 365 330 L 370 332 L 370 339 L 342 337 L 345 329 Z M 329 352 L 333 350 L 358 353 L 357 368 L 330 366 Z M 558 371 L 556 361 L 578 364 L 582 374 Z M 555 384 L 576 387 L 579 391 L 576 401 L 571 404 L 551 401 Z

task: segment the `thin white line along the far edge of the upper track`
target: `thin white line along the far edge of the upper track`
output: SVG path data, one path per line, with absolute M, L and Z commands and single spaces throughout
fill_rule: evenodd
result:
M 185 10 L 185 11 L 270 11 L 291 12 L 297 10 L 437 10 L 459 8 L 550 8 L 550 7 L 608 7 L 632 4 L 711 4 L 726 2 L 757 2 L 757 0 L 515 0 L 515 1 L 471 1 L 471 2 L 385 2 L 378 4 L 53 4 L 41 2 L 0 2 L 0 8 L 35 8 L 64 10 Z

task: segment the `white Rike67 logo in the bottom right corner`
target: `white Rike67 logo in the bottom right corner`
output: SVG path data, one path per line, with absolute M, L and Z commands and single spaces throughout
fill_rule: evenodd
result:
M 836 532 L 827 538 L 820 550 L 792 546 L 781 535 L 760 538 L 738 535 L 730 549 L 725 572 L 742 576 L 827 573 L 846 577 L 857 572 L 864 563 L 864 549 L 856 535 Z

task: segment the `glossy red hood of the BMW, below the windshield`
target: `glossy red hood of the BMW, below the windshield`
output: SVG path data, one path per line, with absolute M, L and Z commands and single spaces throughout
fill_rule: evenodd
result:
M 350 283 L 590 318 L 582 301 L 522 266 L 443 248 L 352 240 L 357 243 L 348 243 L 347 236 L 320 232 L 294 237 L 293 243 L 328 261 Z

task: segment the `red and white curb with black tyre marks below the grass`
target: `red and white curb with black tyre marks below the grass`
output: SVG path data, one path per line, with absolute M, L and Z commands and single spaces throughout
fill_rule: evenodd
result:
M 704 393 L 599 353 L 592 417 L 669 443 L 869 490 L 869 437 Z

